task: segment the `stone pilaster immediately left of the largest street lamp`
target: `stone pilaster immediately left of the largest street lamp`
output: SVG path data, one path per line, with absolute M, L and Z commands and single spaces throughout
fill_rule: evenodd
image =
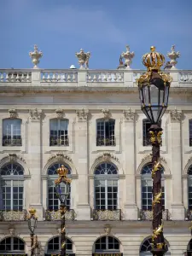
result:
M 124 110 L 125 219 L 137 219 L 135 178 L 135 111 Z

